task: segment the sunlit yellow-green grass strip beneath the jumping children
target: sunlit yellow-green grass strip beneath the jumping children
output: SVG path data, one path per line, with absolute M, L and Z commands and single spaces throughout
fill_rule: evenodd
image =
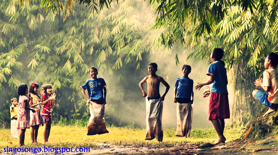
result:
M 192 129 L 190 138 L 176 137 L 175 129 L 164 130 L 163 142 L 156 139 L 145 140 L 145 129 L 134 128 L 107 128 L 109 133 L 103 135 L 87 136 L 87 128 L 77 126 L 52 126 L 49 136 L 51 147 L 97 147 L 99 143 L 117 145 L 117 146 L 135 146 L 135 147 L 153 147 L 167 145 L 188 145 L 188 143 L 202 144 L 205 142 L 214 142 L 217 134 L 213 128 Z M 224 135 L 226 142 L 238 139 L 243 135 L 244 130 L 239 128 L 225 128 Z M 38 142 L 43 142 L 43 127 L 39 128 Z M 9 142 L 12 142 L 10 144 Z M 4 147 L 18 147 L 19 139 L 12 139 L 9 129 L 0 130 L 0 150 Z M 31 144 L 30 129 L 25 132 L 25 145 L 27 147 L 43 147 Z M 48 144 L 46 144 L 48 146 Z

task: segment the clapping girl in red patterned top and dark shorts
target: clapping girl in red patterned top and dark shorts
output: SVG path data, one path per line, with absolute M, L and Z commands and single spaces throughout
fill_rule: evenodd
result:
M 52 95 L 52 86 L 49 84 L 46 84 L 43 86 L 43 88 L 40 91 L 40 96 L 42 98 L 40 99 L 40 102 L 44 103 L 41 106 L 41 116 L 44 119 L 44 143 L 49 143 L 48 138 L 50 134 L 51 129 L 51 108 L 55 104 L 55 97 L 56 94 L 53 93 Z

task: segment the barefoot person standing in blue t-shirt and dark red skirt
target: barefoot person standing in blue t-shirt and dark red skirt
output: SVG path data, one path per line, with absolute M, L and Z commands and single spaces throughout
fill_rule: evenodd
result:
M 197 83 L 195 89 L 202 88 L 204 85 L 210 85 L 210 99 L 209 99 L 209 121 L 212 122 L 214 129 L 217 132 L 218 139 L 213 144 L 225 143 L 226 138 L 223 135 L 225 121 L 230 118 L 228 91 L 227 91 L 227 71 L 221 64 L 220 60 L 223 58 L 224 51 L 220 48 L 213 49 L 210 54 L 211 64 L 209 64 L 209 76 L 207 81 Z

